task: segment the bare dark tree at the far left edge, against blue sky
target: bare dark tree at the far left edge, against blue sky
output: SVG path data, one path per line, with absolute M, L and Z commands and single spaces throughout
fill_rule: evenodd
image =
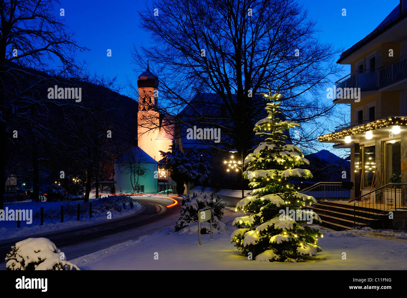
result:
M 33 75 L 29 67 L 46 70 L 51 61 L 59 60 L 62 67 L 54 73 L 72 76 L 78 71 L 75 50 L 86 50 L 73 41 L 72 33 L 61 21 L 63 18 L 59 18 L 59 9 L 54 8 L 54 3 L 57 1 L 0 1 L 0 138 L 4 140 L 0 147 L 0 209 L 3 208 L 7 161 L 17 146 L 13 131 L 20 121 L 26 121 L 17 110 L 26 107 L 27 103 L 34 104 L 27 98 L 27 93 L 44 80 L 42 76 Z M 25 76 L 37 78 L 37 82 L 23 86 L 23 72 Z M 20 88 L 22 86 L 24 88 Z M 42 97 L 46 98 L 46 93 Z

